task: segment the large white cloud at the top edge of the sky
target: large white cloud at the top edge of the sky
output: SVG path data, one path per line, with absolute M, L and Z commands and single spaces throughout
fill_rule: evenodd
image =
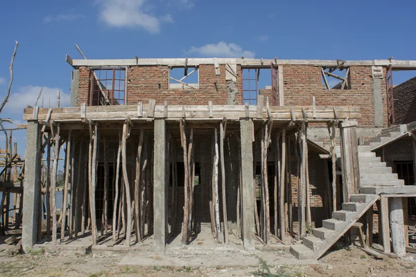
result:
M 155 17 L 149 13 L 146 0 L 98 0 L 99 16 L 112 27 L 139 27 L 159 33 L 161 22 L 173 22 L 171 15 Z

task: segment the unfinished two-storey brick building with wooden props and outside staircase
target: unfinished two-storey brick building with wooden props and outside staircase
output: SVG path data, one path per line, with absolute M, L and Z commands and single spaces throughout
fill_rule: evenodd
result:
M 391 238 L 404 255 L 403 199 L 416 187 L 365 142 L 394 125 L 392 70 L 415 61 L 67 62 L 73 107 L 24 111 L 24 247 L 82 236 L 92 251 L 140 248 L 151 237 L 164 251 L 208 232 L 218 244 L 288 245 L 318 259 L 358 230 L 367 251 L 377 233 L 385 253 Z M 270 82 L 259 88 L 262 71 Z

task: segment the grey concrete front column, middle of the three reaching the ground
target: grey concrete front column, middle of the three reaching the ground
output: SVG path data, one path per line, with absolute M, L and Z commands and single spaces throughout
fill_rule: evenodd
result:
M 153 229 L 155 251 L 164 252 L 166 244 L 166 122 L 155 119 L 153 155 Z

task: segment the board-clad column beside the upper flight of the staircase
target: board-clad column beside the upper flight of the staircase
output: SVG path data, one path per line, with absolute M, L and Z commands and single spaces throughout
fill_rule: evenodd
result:
M 356 121 L 345 121 L 340 125 L 340 147 L 343 165 L 343 201 L 360 191 L 360 171 L 358 169 L 358 145 Z

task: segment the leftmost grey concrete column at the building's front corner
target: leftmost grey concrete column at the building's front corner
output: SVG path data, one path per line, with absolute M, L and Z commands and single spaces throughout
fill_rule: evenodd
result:
M 23 249 L 33 247 L 37 240 L 37 216 L 40 207 L 40 125 L 36 120 L 28 121 L 24 154 Z

